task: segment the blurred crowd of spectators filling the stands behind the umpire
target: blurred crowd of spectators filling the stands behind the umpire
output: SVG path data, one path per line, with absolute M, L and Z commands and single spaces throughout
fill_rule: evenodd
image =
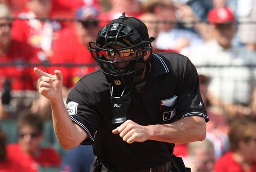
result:
M 206 140 L 175 155 L 192 171 L 256 171 L 256 0 L 0 0 L 0 172 L 89 171 L 91 146 L 58 147 L 33 67 L 61 71 L 66 101 L 98 68 L 89 41 L 123 12 L 146 24 L 153 52 L 185 55 L 199 73 Z

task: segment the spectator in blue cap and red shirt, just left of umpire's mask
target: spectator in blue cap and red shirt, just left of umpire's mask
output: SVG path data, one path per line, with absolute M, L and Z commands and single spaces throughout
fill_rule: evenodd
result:
M 81 7 L 76 13 L 75 26 L 61 30 L 58 39 L 53 43 L 53 54 L 50 57 L 51 65 L 53 65 L 52 72 L 58 68 L 63 74 L 64 97 L 81 76 L 98 68 L 88 49 L 89 41 L 95 40 L 98 34 L 98 14 L 97 9 L 92 6 Z M 66 64 L 69 67 L 56 67 L 57 64 Z M 72 64 L 82 66 L 72 67 Z M 49 100 L 41 95 L 31 107 L 33 112 L 40 113 L 45 118 L 51 117 L 49 109 L 51 109 Z

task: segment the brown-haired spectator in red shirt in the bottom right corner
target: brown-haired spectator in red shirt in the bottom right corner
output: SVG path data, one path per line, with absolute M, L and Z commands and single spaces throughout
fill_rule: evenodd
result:
M 256 122 L 238 120 L 230 126 L 230 149 L 219 158 L 214 172 L 256 171 Z

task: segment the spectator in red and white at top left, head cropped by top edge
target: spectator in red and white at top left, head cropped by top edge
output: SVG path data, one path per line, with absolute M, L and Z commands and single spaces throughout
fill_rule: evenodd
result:
M 36 18 L 47 18 L 50 16 L 52 0 L 28 0 L 27 11 L 18 15 L 25 20 L 15 20 L 13 23 L 13 37 L 27 42 L 35 50 L 40 50 L 46 55 L 41 56 L 40 60 L 47 60 L 51 54 L 52 42 L 55 33 L 61 28 L 60 24 L 54 21 L 39 20 Z

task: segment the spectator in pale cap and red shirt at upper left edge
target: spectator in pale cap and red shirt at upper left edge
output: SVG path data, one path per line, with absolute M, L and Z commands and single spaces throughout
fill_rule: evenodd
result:
M 33 57 L 30 46 L 11 38 L 12 22 L 11 13 L 7 6 L 0 4 L 0 62 L 1 63 L 27 63 Z M 27 73 L 27 68 L 22 65 L 14 67 L 3 66 L 0 68 L 0 90 L 6 79 L 12 82 L 13 90 L 33 90 L 33 85 Z

